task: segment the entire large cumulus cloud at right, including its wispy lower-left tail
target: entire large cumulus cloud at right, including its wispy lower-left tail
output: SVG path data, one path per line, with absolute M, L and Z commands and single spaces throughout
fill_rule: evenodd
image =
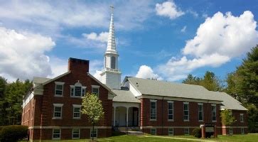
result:
M 257 22 L 251 11 L 244 11 L 240 16 L 217 12 L 206 18 L 195 37 L 186 42 L 182 58 L 171 58 L 156 70 L 162 77 L 174 81 L 185 78 L 199 67 L 219 67 L 257 44 L 256 28 Z

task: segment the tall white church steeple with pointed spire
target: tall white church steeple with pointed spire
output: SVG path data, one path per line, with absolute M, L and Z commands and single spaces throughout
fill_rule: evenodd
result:
M 114 6 L 111 7 L 111 19 L 109 25 L 109 37 L 107 40 L 107 50 L 104 53 L 104 69 L 100 73 L 101 82 L 107 84 L 112 89 L 121 89 L 121 72 L 118 69 L 118 53 L 116 39 L 114 35 Z

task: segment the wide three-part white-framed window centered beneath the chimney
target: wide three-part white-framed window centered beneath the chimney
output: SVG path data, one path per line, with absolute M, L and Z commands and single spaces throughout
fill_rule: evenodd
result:
M 70 96 L 71 97 L 82 97 L 85 95 L 86 87 L 83 87 L 80 82 L 76 82 L 75 85 L 70 85 Z

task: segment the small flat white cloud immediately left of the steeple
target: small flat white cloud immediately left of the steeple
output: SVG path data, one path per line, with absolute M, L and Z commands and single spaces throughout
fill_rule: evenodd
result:
M 109 36 L 108 32 L 102 32 L 99 35 L 97 33 L 82 33 L 82 35 L 88 40 L 100 41 L 101 43 L 107 43 L 107 38 Z

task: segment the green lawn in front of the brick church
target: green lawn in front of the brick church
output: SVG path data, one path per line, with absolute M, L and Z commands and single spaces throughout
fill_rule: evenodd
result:
M 85 142 L 86 140 L 63 140 L 62 142 Z M 112 136 L 109 138 L 97 138 L 97 141 L 203 141 L 201 138 L 195 138 L 193 136 Z M 247 135 L 233 135 L 233 136 L 221 136 L 218 138 L 206 138 L 205 141 L 258 141 L 258 134 Z M 42 141 L 48 142 L 48 141 Z M 51 141 L 53 142 L 53 141 Z M 56 141 L 58 142 L 58 141 Z

